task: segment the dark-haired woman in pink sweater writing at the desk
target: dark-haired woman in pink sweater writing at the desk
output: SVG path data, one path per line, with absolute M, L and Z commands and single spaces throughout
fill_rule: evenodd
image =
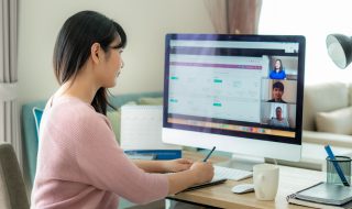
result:
M 210 163 L 132 162 L 117 144 L 107 88 L 116 86 L 125 44 L 123 29 L 94 11 L 61 29 L 53 62 L 61 87 L 41 123 L 32 208 L 116 209 L 119 197 L 146 204 L 212 178 Z

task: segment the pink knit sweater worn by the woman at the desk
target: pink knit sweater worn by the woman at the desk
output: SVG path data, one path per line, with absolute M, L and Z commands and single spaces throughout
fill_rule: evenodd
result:
M 50 100 L 41 122 L 31 208 L 113 208 L 119 197 L 164 198 L 168 180 L 124 155 L 108 119 L 73 97 Z

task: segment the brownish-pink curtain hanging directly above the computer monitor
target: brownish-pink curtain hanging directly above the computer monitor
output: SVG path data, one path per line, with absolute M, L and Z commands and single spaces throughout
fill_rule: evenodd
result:
M 262 0 L 205 0 L 217 33 L 256 34 Z

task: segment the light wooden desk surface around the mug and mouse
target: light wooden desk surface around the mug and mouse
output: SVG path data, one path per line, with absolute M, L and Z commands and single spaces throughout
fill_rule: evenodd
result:
M 184 156 L 194 160 L 204 157 L 201 155 L 199 156 L 195 153 L 189 152 L 185 152 Z M 212 157 L 215 162 L 224 160 L 215 158 L 216 157 Z M 202 205 L 215 206 L 219 208 L 306 208 L 287 204 L 286 196 L 324 179 L 326 175 L 322 172 L 279 166 L 279 185 L 276 198 L 273 201 L 257 200 L 254 193 L 237 195 L 231 191 L 231 188 L 234 185 L 253 183 L 252 178 L 248 178 L 241 182 L 227 180 L 224 184 L 220 184 L 217 186 L 180 193 L 178 195 L 172 196 L 172 199 L 199 202 Z

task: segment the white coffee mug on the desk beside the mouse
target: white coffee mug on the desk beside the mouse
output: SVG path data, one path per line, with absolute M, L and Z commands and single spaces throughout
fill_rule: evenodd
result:
M 253 166 L 255 197 L 258 200 L 274 200 L 278 187 L 278 166 L 258 164 Z

